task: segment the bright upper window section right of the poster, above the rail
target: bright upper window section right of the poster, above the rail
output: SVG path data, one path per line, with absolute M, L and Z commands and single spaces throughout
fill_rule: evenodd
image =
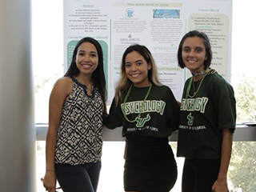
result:
M 237 99 L 237 123 L 256 122 L 256 65 L 254 55 L 254 30 L 250 30 L 253 18 L 241 17 L 242 14 L 254 13 L 255 2 L 233 1 L 231 85 Z

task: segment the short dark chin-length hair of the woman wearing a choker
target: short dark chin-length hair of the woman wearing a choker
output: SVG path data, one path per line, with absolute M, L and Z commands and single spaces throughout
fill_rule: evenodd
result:
M 207 68 L 210 67 L 211 64 L 211 59 L 213 58 L 213 53 L 211 50 L 211 46 L 210 46 L 210 40 L 207 37 L 207 35 L 201 31 L 198 30 L 191 30 L 190 32 L 188 32 L 187 34 L 185 34 L 182 38 L 182 41 L 179 43 L 178 46 L 178 66 L 181 67 L 182 69 L 184 69 L 185 64 L 182 60 L 182 46 L 186 40 L 186 38 L 194 38 L 194 37 L 198 37 L 198 38 L 202 38 L 203 40 L 203 44 L 206 47 L 206 57 L 207 59 L 203 62 L 204 65 L 204 69 L 206 70 Z

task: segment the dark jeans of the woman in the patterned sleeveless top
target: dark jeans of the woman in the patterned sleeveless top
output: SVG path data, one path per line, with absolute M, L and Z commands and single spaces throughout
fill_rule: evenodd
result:
M 55 164 L 56 177 L 64 192 L 96 192 L 101 162 L 71 166 Z

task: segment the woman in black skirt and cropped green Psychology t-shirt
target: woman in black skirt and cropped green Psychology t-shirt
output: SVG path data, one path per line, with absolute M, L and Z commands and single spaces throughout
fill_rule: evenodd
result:
M 168 137 L 178 129 L 179 107 L 168 86 L 158 81 L 146 46 L 133 45 L 122 56 L 121 79 L 106 118 L 106 127 L 122 126 L 126 137 L 126 191 L 168 192 L 177 166 Z

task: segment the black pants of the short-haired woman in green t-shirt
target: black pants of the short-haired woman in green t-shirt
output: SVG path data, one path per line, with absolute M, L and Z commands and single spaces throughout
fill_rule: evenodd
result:
M 185 159 L 182 192 L 211 192 L 218 178 L 220 159 Z

